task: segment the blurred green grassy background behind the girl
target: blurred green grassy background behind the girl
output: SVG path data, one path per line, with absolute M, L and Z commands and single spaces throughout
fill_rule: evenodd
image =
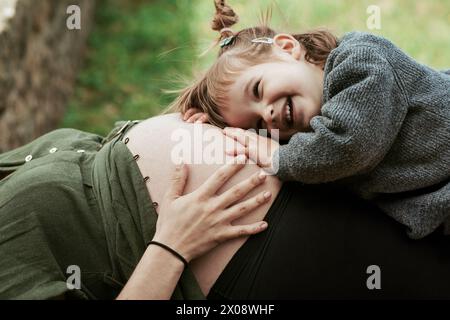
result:
M 385 36 L 418 61 L 450 68 L 449 0 L 229 0 L 235 29 L 255 25 L 272 8 L 277 31 L 327 27 L 341 36 L 368 31 Z M 369 5 L 381 9 L 381 30 L 368 30 Z M 99 0 L 95 25 L 62 127 L 106 134 L 122 119 L 159 114 L 173 99 L 163 90 L 201 71 L 216 50 L 210 29 L 213 0 Z

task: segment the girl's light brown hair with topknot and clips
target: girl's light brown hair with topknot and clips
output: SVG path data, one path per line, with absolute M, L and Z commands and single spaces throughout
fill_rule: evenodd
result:
M 229 27 L 238 22 L 237 14 L 224 0 L 214 0 L 214 4 L 216 14 L 211 27 L 220 32 L 216 44 L 227 38 L 229 43 L 221 46 L 217 60 L 201 77 L 178 91 L 179 96 L 168 110 L 184 114 L 190 108 L 197 108 L 208 114 L 211 124 L 223 128 L 227 124 L 221 116 L 220 108 L 228 99 L 227 89 L 246 67 L 267 62 L 273 53 L 271 45 L 253 43 L 252 40 L 273 38 L 277 33 L 267 26 L 269 15 L 266 15 L 266 21 L 262 21 L 262 25 L 233 33 Z M 322 67 L 331 50 L 337 46 L 336 37 L 322 29 L 292 36 L 304 47 L 305 59 Z

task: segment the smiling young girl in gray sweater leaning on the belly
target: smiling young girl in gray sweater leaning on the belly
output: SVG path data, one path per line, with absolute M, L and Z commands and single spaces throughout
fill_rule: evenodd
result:
M 422 238 L 450 233 L 450 73 L 417 63 L 388 40 L 352 32 L 232 32 L 215 1 L 219 56 L 173 107 L 190 122 L 278 129 L 274 140 L 225 128 L 282 180 L 335 182 L 376 203 Z M 424 43 L 426 45 L 426 43 Z M 326 201 L 326 195 L 324 195 Z M 447 220 L 447 222 L 446 222 Z

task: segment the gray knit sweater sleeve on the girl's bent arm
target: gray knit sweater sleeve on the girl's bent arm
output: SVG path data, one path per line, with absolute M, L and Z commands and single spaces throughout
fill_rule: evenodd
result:
M 326 102 L 312 131 L 296 133 L 273 157 L 282 180 L 324 183 L 369 171 L 399 132 L 406 107 L 389 62 L 370 46 L 338 49 L 327 61 Z

